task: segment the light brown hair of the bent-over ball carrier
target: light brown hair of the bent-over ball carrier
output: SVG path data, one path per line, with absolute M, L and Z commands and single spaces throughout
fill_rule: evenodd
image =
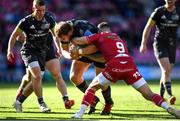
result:
M 55 34 L 57 37 L 67 35 L 73 29 L 72 25 L 68 22 L 62 21 L 55 26 Z

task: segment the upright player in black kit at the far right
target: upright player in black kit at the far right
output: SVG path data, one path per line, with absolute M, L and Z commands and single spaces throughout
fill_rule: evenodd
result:
M 160 95 L 163 97 L 166 90 L 170 104 L 176 101 L 171 90 L 170 74 L 176 59 L 177 29 L 180 25 L 180 10 L 175 2 L 176 0 L 165 0 L 164 6 L 154 10 L 144 28 L 140 46 L 140 52 L 144 53 L 150 32 L 156 26 L 153 47 L 161 69 Z

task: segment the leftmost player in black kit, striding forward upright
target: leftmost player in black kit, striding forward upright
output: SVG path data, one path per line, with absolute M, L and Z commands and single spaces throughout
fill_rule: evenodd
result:
M 33 1 L 33 13 L 26 16 L 16 26 L 10 36 L 7 59 L 12 61 L 14 58 L 13 46 L 17 36 L 23 32 L 26 34 L 26 41 L 21 48 L 22 59 L 31 73 L 31 80 L 33 83 L 33 90 L 38 98 L 39 106 L 42 112 L 49 112 L 43 100 L 42 95 L 42 74 L 45 67 L 45 57 L 47 49 L 47 37 L 49 31 L 53 33 L 55 20 L 46 12 L 46 5 L 43 0 Z M 56 44 L 59 48 L 59 44 Z M 16 107 L 17 112 L 21 112 L 21 102 L 17 102 L 19 106 Z

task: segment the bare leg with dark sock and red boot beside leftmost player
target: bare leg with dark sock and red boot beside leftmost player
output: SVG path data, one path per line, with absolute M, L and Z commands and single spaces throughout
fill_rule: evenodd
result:
M 46 68 L 48 71 L 53 75 L 56 80 L 56 86 L 59 92 L 62 94 L 62 98 L 65 104 L 66 109 L 70 109 L 74 105 L 74 100 L 69 100 L 66 83 L 64 82 L 61 70 L 60 70 L 60 63 L 59 60 L 54 58 L 46 62 Z

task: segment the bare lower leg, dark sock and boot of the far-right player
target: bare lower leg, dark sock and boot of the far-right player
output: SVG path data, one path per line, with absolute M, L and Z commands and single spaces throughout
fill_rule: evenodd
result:
M 176 101 L 176 98 L 172 95 L 171 77 L 170 77 L 173 64 L 169 62 L 169 59 L 167 57 L 157 59 L 157 61 L 161 69 L 160 94 L 163 97 L 164 91 L 166 89 L 169 96 L 169 99 L 168 99 L 169 103 L 174 104 Z

